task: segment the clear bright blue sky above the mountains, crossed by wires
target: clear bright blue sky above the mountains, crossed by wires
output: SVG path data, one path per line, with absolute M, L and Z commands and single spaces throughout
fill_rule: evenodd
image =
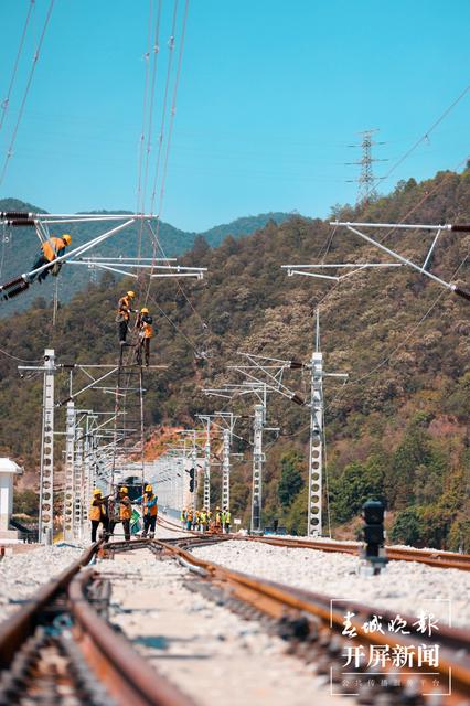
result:
M 35 2 L 0 164 L 49 1 Z M 29 2 L 0 2 L 1 99 Z M 173 0 L 162 4 L 150 175 Z M 149 7 L 55 0 L 0 197 L 54 213 L 136 207 Z M 190 0 L 162 218 L 203 231 L 267 211 L 327 216 L 353 202 L 346 180 L 359 168 L 344 162 L 360 150 L 349 146 L 380 128 L 386 145 L 375 156 L 389 161 L 375 171 L 385 173 L 470 83 L 469 26 L 468 0 Z M 382 191 L 469 157 L 469 115 L 470 93 Z

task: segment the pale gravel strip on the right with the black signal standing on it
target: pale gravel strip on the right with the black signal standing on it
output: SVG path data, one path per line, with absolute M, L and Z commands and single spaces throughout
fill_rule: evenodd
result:
M 197 556 L 237 571 L 307 590 L 346 598 L 417 616 L 432 612 L 448 624 L 470 628 L 470 575 L 416 561 L 389 561 L 380 576 L 357 574 L 359 558 L 348 554 L 290 549 L 261 543 L 229 541 L 197 547 Z

